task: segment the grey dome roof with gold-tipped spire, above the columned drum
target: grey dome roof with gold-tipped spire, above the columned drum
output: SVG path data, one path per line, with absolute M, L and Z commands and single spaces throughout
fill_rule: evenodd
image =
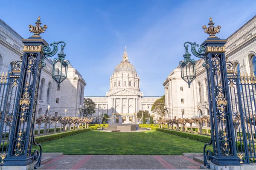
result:
M 135 67 L 128 60 L 126 46 L 125 46 L 125 52 L 123 54 L 122 62 L 116 66 L 116 68 L 114 70 L 114 74 L 117 72 L 122 72 L 122 71 L 125 71 L 125 72 L 127 71 L 127 72 L 137 74 Z

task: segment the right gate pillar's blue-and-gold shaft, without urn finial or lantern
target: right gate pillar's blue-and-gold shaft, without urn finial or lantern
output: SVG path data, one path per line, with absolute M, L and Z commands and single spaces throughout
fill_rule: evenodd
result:
M 216 165 L 239 165 L 239 159 L 236 157 L 226 57 L 224 54 L 226 52 L 224 49 L 226 42 L 227 40 L 210 36 L 202 43 L 206 46 L 205 58 L 212 122 L 212 163 Z

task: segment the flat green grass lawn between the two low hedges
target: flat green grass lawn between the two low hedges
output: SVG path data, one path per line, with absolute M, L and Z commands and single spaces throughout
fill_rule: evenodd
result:
M 203 153 L 203 142 L 150 130 L 109 133 L 97 130 L 42 143 L 43 152 L 65 155 L 181 155 Z

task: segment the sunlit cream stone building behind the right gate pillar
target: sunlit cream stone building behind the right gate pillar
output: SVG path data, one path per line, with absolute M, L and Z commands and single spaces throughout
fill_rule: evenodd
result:
M 234 64 L 234 71 L 238 74 L 256 75 L 256 16 L 227 38 L 225 50 L 227 61 Z M 207 74 L 202 66 L 203 62 L 204 59 L 196 62 L 196 78 L 190 88 L 181 79 L 180 66 L 163 82 L 168 96 L 165 109 L 167 114 L 172 115 L 171 119 L 174 116 L 181 117 L 181 109 L 184 109 L 183 117 L 186 118 L 209 114 Z

